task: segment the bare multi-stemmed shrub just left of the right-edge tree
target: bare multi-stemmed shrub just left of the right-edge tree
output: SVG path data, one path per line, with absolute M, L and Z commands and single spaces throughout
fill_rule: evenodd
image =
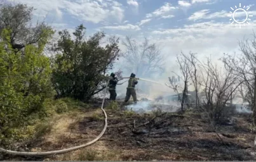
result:
M 231 100 L 232 94 L 242 82 L 232 71 L 222 70 L 217 65 L 213 65 L 211 59 L 201 67 L 203 68 L 201 86 L 206 97 L 203 107 L 211 119 L 222 121 L 227 115 L 227 101 Z

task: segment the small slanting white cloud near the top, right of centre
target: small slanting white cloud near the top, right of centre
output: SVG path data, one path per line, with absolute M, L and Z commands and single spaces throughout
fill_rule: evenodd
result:
M 177 7 L 172 6 L 172 4 L 170 4 L 170 3 L 165 3 L 163 6 L 156 9 L 152 13 L 148 13 L 146 15 L 146 18 L 152 18 L 153 16 L 155 16 L 155 17 L 167 16 L 167 15 L 170 15 L 170 12 L 174 11 L 175 9 L 177 9 Z

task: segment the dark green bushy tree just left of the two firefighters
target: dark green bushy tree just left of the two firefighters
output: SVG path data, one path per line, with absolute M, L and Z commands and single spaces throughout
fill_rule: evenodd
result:
M 85 28 L 79 25 L 73 33 L 59 32 L 60 40 L 56 46 L 53 84 L 58 97 L 74 97 L 87 101 L 104 88 L 105 73 L 111 69 L 119 57 L 118 39 L 111 37 L 109 44 L 100 46 L 105 37 L 103 32 L 84 39 Z

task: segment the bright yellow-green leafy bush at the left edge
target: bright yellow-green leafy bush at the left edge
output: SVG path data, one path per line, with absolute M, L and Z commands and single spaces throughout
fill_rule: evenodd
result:
M 25 46 L 24 54 L 12 48 L 11 30 L 1 34 L 0 139 L 18 138 L 17 128 L 44 115 L 44 100 L 53 96 L 50 59 L 42 54 L 53 31 L 44 32 L 39 46 Z

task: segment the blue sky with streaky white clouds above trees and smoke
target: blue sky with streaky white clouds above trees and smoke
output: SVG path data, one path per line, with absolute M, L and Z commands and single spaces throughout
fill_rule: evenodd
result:
M 45 18 L 57 30 L 72 30 L 83 23 L 87 35 L 104 31 L 107 35 L 116 35 L 121 40 L 130 35 L 138 42 L 147 37 L 152 43 L 158 44 L 161 52 L 166 55 L 166 72 L 163 78 L 170 76 L 173 69 L 177 70 L 175 59 L 180 51 L 191 51 L 199 57 L 211 56 L 213 60 L 217 60 L 223 53 L 239 53 L 238 40 L 252 37 L 253 28 L 256 27 L 255 0 L 15 2 L 34 6 L 34 20 Z M 234 19 L 237 22 L 246 21 L 240 28 Z M 120 48 L 124 48 L 122 44 Z

